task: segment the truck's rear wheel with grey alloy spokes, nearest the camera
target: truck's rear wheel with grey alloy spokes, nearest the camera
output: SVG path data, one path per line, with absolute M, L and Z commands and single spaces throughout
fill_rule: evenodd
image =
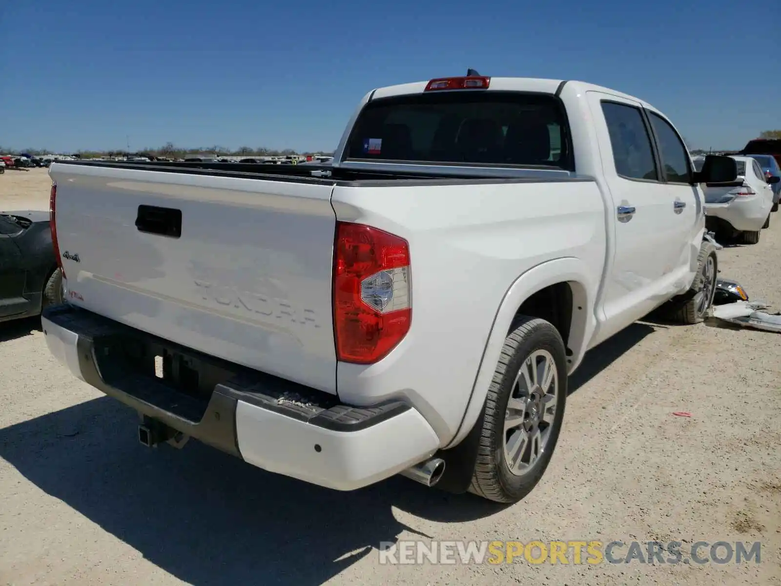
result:
M 532 361 L 537 365 L 533 370 L 529 368 Z M 527 381 L 532 383 L 531 389 Z M 514 407 L 508 409 L 511 397 Z M 528 495 L 551 461 L 562 429 L 566 398 L 567 366 L 561 335 L 545 320 L 521 316 L 505 338 L 488 389 L 469 491 L 495 502 L 518 502 Z M 511 420 L 519 423 L 505 432 L 511 411 Z M 524 436 L 526 441 L 519 443 Z M 537 452 L 536 457 L 532 457 L 533 452 Z M 513 460 L 512 456 L 517 458 Z M 513 461 L 518 466 L 511 470 Z

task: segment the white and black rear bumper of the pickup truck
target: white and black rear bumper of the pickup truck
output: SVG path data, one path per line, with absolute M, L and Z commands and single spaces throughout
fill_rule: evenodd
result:
M 149 334 L 70 306 L 46 309 L 42 325 L 50 352 L 74 376 L 264 470 L 353 490 L 401 472 L 439 448 L 437 434 L 404 402 L 346 406 L 333 395 L 176 348 L 219 372 L 230 372 L 209 398 L 197 398 L 154 374 L 123 366 L 127 360 L 118 355 L 127 341 L 152 340 Z

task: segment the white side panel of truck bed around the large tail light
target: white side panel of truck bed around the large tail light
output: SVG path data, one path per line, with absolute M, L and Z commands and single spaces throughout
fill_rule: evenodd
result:
M 576 259 L 593 280 L 574 285 L 594 303 L 607 230 L 604 200 L 593 180 L 414 188 L 337 184 L 332 201 L 337 220 L 408 239 L 412 265 L 409 333 L 380 363 L 339 363 L 343 401 L 369 405 L 407 398 L 440 438 L 450 439 L 469 402 L 497 309 L 515 280 L 553 259 Z M 593 305 L 579 314 L 576 319 L 593 316 Z M 572 329 L 583 332 L 579 323 Z M 586 342 L 569 341 L 575 348 Z

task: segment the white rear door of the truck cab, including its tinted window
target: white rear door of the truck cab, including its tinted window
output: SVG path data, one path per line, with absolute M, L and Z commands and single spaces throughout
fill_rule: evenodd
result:
M 615 230 L 602 298 L 606 321 L 598 342 L 671 296 L 669 272 L 679 263 L 680 229 L 643 106 L 597 91 L 588 92 L 588 102 Z

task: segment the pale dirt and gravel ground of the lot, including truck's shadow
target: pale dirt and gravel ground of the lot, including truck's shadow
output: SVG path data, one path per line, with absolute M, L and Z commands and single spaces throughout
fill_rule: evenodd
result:
M 48 207 L 45 170 L 0 176 L 0 209 L 29 207 Z M 779 308 L 773 220 L 719 261 Z M 629 327 L 573 377 L 543 481 L 501 508 L 403 478 L 337 493 L 194 442 L 148 450 L 134 413 L 55 363 L 39 325 L 0 325 L 2 584 L 781 584 L 778 334 Z M 762 548 L 740 565 L 378 563 L 381 541 L 432 538 Z

